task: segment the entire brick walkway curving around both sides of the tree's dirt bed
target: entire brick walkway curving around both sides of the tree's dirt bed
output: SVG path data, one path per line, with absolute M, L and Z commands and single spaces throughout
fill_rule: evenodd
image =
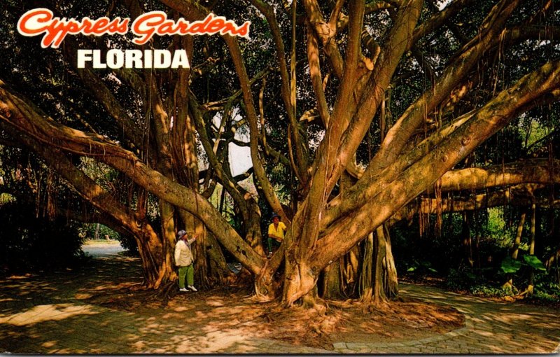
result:
M 201 329 L 172 314 L 148 316 L 87 304 L 98 290 L 127 286 L 138 261 L 104 254 L 90 269 L 0 281 L 0 353 L 552 353 L 559 351 L 560 311 L 506 304 L 402 285 L 402 295 L 451 304 L 465 327 L 419 341 L 335 342 L 334 351 L 244 336 L 235 323 Z M 92 278 L 94 277 L 94 278 Z M 175 311 L 183 311 L 178 307 Z M 169 316 L 167 316 L 169 315 Z M 246 322 L 251 323 L 251 321 Z M 244 323 L 244 324 L 246 324 Z M 187 337 L 188 336 L 188 337 Z

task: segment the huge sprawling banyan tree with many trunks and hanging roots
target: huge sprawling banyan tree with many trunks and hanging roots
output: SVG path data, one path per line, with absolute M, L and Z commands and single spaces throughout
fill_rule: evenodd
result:
M 173 286 L 176 232 L 186 229 L 200 237 L 195 271 L 205 287 L 222 283 L 233 257 L 255 295 L 286 307 L 349 295 L 379 304 L 398 293 L 396 221 L 554 207 L 560 19 L 552 0 L 8 0 L 2 8 L 3 144 L 32 151 L 71 188 L 65 201 L 74 203 L 54 203 L 72 219 L 134 237 L 148 288 Z M 130 33 L 69 35 L 41 48 L 41 36 L 16 30 L 33 8 L 131 22 L 155 10 L 188 22 L 215 14 L 251 26 L 244 37 L 174 34 L 137 45 Z M 80 68 L 78 50 L 92 48 L 102 58 L 111 49 L 185 50 L 190 67 Z M 545 131 L 535 146 L 517 143 L 490 160 L 528 121 Z M 250 153 L 241 173 L 232 170 L 240 148 Z M 112 184 L 86 162 L 113 172 Z M 211 200 L 218 190 L 235 219 Z M 151 204 L 157 220 L 148 219 Z M 288 232 L 267 258 L 262 227 L 272 211 Z

